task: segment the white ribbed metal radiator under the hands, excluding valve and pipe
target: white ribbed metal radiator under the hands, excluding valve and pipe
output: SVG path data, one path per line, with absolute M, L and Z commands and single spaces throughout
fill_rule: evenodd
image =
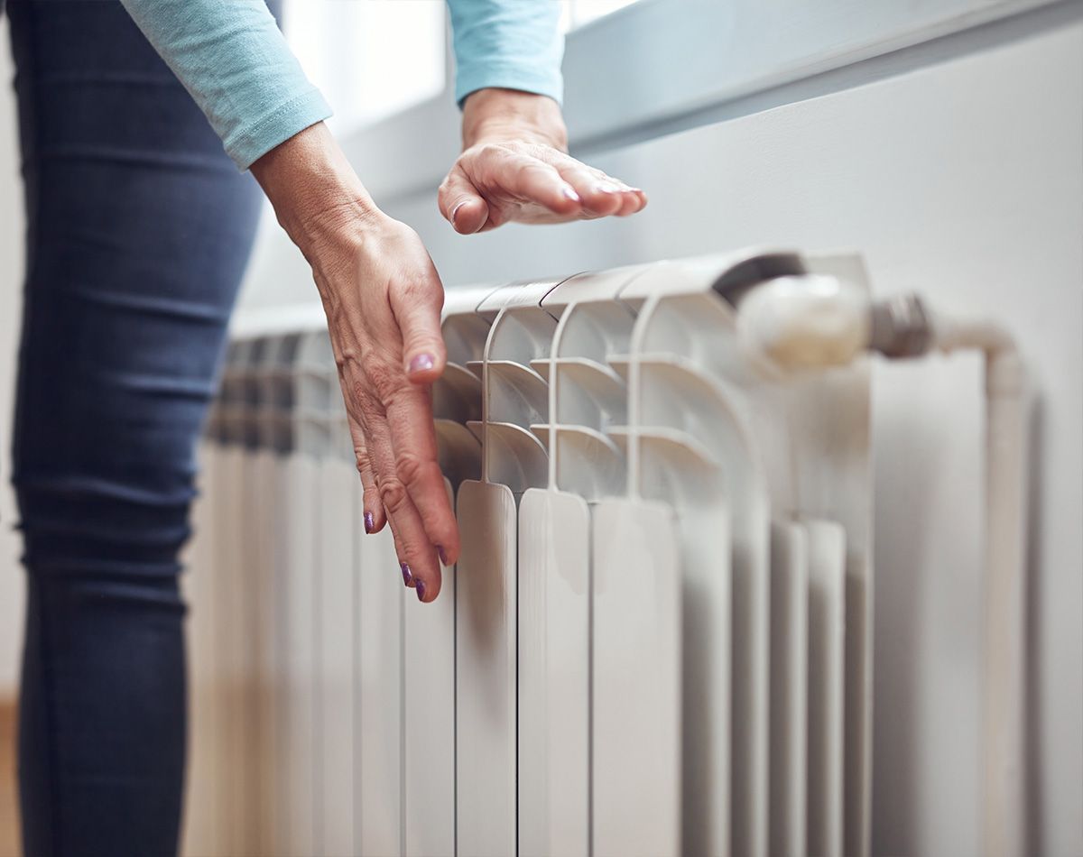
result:
M 869 853 L 869 364 L 742 345 L 748 251 L 447 294 L 462 537 L 431 605 L 318 319 L 233 342 L 201 448 L 191 855 Z

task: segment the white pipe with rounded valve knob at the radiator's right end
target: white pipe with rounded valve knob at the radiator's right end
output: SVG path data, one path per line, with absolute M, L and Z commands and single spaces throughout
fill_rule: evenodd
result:
M 986 579 L 982 663 L 982 854 L 1027 847 L 1027 501 L 1030 399 L 1010 333 L 936 314 L 916 295 L 870 305 L 833 277 L 780 277 L 739 304 L 746 350 L 782 370 L 978 350 L 986 372 Z

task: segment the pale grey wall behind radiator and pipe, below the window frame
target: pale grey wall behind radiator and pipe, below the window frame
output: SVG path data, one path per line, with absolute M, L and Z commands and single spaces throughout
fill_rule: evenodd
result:
M 449 285 L 756 243 L 856 248 L 879 294 L 919 290 L 1008 321 L 1042 393 L 1032 853 L 1064 857 L 1083 854 L 1081 21 L 1060 4 L 770 93 L 772 109 L 752 100 L 745 115 L 595 153 L 651 195 L 628 221 L 462 238 L 430 192 L 380 200 Z M 249 307 L 312 301 L 284 242 L 251 274 Z M 875 375 L 877 854 L 980 853 L 980 388 L 973 357 Z

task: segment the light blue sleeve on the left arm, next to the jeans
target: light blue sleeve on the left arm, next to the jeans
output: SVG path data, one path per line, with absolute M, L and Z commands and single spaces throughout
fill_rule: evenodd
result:
M 263 0 L 121 0 L 242 170 L 331 109 Z

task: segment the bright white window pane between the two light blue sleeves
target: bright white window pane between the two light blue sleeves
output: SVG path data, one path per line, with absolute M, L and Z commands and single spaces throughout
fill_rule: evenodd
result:
M 286 0 L 283 26 L 338 134 L 444 91 L 444 0 Z

